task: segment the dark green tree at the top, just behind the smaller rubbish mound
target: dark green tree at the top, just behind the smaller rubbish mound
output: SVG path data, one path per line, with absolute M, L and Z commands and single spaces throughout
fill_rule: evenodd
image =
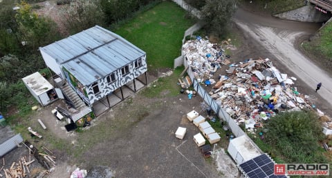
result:
M 201 10 L 205 29 L 217 37 L 222 37 L 227 32 L 234 12 L 237 10 L 236 0 L 206 0 Z

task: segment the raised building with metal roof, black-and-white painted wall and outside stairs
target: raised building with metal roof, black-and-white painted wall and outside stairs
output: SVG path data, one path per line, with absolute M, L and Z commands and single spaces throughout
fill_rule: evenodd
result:
M 147 84 L 146 53 L 100 26 L 39 50 L 46 66 L 59 77 L 55 81 L 63 86 L 68 102 L 80 112 L 85 110 L 80 117 L 88 114 L 87 108 L 98 116 Z

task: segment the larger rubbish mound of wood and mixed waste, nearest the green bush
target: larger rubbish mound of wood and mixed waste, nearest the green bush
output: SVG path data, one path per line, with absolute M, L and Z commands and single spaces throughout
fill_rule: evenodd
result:
M 313 109 L 308 95 L 293 87 L 295 77 L 282 74 L 270 59 L 248 59 L 230 65 L 227 75 L 219 77 L 210 95 L 246 128 L 261 127 L 280 110 Z

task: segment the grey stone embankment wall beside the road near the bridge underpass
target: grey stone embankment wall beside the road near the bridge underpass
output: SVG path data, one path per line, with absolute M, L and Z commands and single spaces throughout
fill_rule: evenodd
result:
M 302 8 L 276 14 L 275 17 L 280 19 L 288 19 L 293 21 L 307 21 L 307 22 L 324 22 L 331 18 L 331 12 L 324 14 L 315 9 L 315 6 L 310 3 Z

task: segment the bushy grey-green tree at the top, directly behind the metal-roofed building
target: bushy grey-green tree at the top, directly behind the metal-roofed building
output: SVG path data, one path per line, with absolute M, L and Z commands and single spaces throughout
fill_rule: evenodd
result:
M 62 9 L 62 23 L 71 33 L 104 24 L 104 14 L 99 1 L 77 0 Z

